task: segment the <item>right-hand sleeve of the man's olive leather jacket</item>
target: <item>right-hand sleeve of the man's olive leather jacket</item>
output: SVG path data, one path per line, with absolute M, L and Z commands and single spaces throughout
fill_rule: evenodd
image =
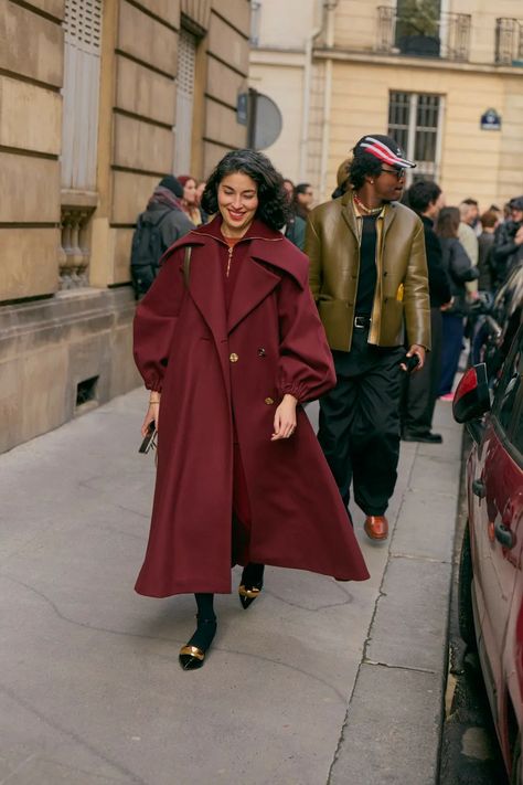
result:
M 430 349 L 430 304 L 428 298 L 427 257 L 421 221 L 410 247 L 407 275 L 404 282 L 405 326 L 408 343 Z

